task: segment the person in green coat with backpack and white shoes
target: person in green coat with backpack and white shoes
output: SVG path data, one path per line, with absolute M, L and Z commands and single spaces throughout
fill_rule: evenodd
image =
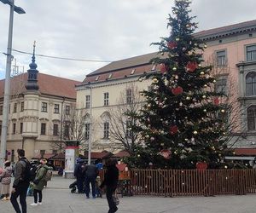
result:
M 46 164 L 47 164 L 47 160 L 41 159 L 40 165 L 38 165 L 38 170 L 36 171 L 36 177 L 35 177 L 35 180 L 33 181 L 34 203 L 30 204 L 32 206 L 42 204 L 42 200 L 43 200 L 42 191 L 44 189 L 44 186 L 46 186 L 46 183 L 47 183 L 45 177 L 47 176 L 47 171 L 52 170 L 52 167 L 49 167 Z

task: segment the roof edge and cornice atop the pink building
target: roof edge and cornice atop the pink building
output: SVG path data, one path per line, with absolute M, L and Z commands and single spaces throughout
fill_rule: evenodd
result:
M 232 34 L 249 32 L 256 30 L 256 20 L 248 20 L 230 26 L 221 26 L 206 31 L 195 32 L 195 37 L 201 37 L 203 40 L 214 39 L 216 37 L 227 37 Z

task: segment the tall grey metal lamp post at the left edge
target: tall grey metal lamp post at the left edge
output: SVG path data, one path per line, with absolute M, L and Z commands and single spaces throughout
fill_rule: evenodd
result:
M 13 23 L 14 12 L 18 14 L 25 14 L 24 9 L 15 6 L 15 0 L 0 0 L 0 2 L 9 4 L 9 36 L 7 47 L 7 59 L 6 59 L 6 72 L 4 82 L 4 96 L 3 96 L 3 121 L 2 121 L 2 135 L 1 135 L 1 153 L 0 153 L 0 165 L 2 165 L 6 158 L 6 136 L 8 129 L 8 114 L 9 114 L 9 87 L 10 87 L 10 72 L 12 63 L 12 39 L 13 39 Z

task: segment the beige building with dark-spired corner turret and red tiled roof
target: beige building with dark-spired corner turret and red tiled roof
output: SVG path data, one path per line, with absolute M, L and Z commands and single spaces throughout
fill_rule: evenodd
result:
M 27 158 L 58 152 L 63 121 L 75 105 L 75 84 L 80 83 L 38 73 L 34 55 L 29 66 L 27 73 L 10 80 L 7 151 L 11 161 L 16 159 L 19 148 L 25 149 Z M 4 79 L 0 81 L 0 120 L 3 88 Z

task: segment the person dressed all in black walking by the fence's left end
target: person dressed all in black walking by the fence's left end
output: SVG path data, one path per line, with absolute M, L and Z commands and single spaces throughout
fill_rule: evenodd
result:
M 115 193 L 115 190 L 118 185 L 119 181 L 119 170 L 116 167 L 116 161 L 109 158 L 106 161 L 107 171 L 104 176 L 104 180 L 102 181 L 102 184 L 100 188 L 103 188 L 106 186 L 106 197 L 108 200 L 108 213 L 114 213 L 118 210 L 116 204 L 113 202 L 113 193 Z

